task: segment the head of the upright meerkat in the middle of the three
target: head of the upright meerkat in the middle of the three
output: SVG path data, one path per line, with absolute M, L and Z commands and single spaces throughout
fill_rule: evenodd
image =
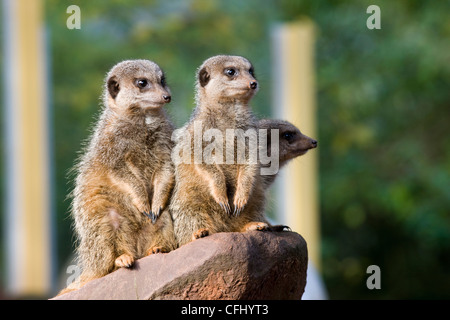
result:
M 197 98 L 248 102 L 258 91 L 253 65 L 240 56 L 219 55 L 203 62 L 197 72 Z

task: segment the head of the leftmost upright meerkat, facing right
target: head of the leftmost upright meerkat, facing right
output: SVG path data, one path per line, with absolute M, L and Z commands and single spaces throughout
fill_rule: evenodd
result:
M 149 60 L 126 60 L 109 71 L 105 104 L 116 112 L 157 109 L 171 100 L 164 72 Z

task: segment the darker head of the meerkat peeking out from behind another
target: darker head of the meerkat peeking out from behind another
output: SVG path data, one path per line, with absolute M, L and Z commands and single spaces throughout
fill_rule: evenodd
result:
M 285 165 L 289 160 L 304 155 L 309 149 L 317 147 L 317 141 L 305 136 L 300 130 L 288 121 L 263 119 L 258 123 L 260 129 L 267 129 L 268 152 L 271 150 L 271 130 L 278 129 L 280 165 Z

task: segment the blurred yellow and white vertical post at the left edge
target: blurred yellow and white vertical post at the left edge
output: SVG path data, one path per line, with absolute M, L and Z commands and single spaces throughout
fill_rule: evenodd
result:
M 6 286 L 51 289 L 51 206 L 41 0 L 3 0 Z

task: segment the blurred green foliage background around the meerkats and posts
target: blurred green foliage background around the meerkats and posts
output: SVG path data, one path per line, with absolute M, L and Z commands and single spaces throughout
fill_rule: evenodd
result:
M 177 125 L 194 103 L 196 68 L 209 56 L 248 57 L 269 116 L 270 28 L 317 24 L 322 274 L 330 298 L 450 297 L 450 3 L 448 1 L 46 1 L 58 253 L 73 246 L 67 177 L 99 110 L 103 78 L 130 58 L 157 62 Z M 368 30 L 366 8 L 381 8 Z M 306 133 L 307 134 L 307 133 Z M 366 268 L 381 268 L 368 290 Z

